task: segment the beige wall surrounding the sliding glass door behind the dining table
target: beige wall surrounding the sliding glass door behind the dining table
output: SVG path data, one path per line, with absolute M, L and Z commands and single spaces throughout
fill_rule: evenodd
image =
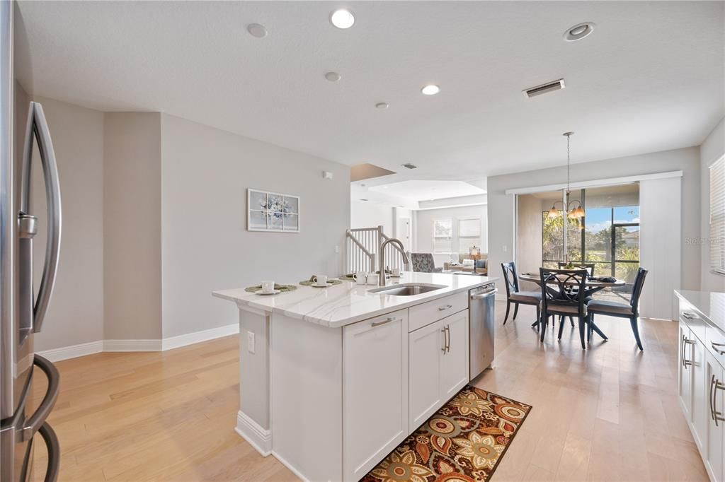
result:
M 573 164 L 572 182 L 611 177 L 634 176 L 682 170 L 682 239 L 700 236 L 700 149 L 675 149 L 656 153 L 606 159 Z M 566 181 L 566 166 L 537 171 L 518 172 L 489 177 L 489 263 L 498 266 L 514 257 L 514 196 L 505 190 L 517 187 L 554 185 Z M 642 229 L 645 229 L 644 227 Z M 682 243 L 679 255 L 682 262 L 680 286 L 684 289 L 700 288 L 700 246 Z M 650 266 L 645 268 L 651 269 Z M 653 272 L 650 274 L 655 276 Z M 504 289 L 500 284 L 499 289 Z

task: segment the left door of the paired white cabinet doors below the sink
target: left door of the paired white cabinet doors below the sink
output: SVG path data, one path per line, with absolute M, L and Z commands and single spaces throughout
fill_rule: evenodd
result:
M 441 397 L 441 358 L 445 348 L 443 320 L 408 334 L 410 431 L 438 410 Z

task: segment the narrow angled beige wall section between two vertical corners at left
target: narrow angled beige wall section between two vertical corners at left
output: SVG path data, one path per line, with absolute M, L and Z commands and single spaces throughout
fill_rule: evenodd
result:
M 161 114 L 108 112 L 104 133 L 104 338 L 159 339 Z

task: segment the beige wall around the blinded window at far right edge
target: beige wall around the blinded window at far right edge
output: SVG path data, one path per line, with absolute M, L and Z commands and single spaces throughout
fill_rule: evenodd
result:
M 700 199 L 703 208 L 700 212 L 701 234 L 701 263 L 702 266 L 702 289 L 703 291 L 719 291 L 725 292 L 725 276 L 715 274 L 710 271 L 710 169 L 713 162 L 717 161 L 725 154 L 725 119 L 713 129 L 700 146 L 700 179 L 702 182 L 702 190 L 700 190 Z

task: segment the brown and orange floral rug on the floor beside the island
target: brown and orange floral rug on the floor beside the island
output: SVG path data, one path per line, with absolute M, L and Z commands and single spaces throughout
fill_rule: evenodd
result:
M 487 481 L 530 410 L 465 386 L 362 480 Z

